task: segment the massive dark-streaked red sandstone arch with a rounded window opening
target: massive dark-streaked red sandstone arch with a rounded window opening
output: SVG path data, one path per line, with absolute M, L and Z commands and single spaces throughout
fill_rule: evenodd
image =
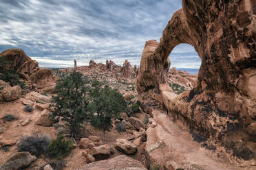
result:
M 255 6 L 253 0 L 182 0 L 160 42 L 146 42 L 136 82 L 142 103 L 160 101 L 203 140 L 248 165 L 256 158 Z M 202 64 L 193 89 L 177 96 L 167 71 L 169 54 L 180 43 L 193 45 Z

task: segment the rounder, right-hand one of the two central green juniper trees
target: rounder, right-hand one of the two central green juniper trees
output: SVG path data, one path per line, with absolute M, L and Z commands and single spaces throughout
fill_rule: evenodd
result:
M 111 89 L 109 86 L 103 88 L 96 80 L 92 82 L 90 101 L 90 123 L 103 130 L 108 130 L 112 123 L 111 119 L 119 117 L 120 112 L 127 107 L 124 97 L 117 89 Z

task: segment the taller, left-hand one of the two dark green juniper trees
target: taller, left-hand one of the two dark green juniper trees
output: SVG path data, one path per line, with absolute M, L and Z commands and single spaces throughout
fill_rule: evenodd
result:
M 54 112 L 52 117 L 63 117 L 70 125 L 72 134 L 76 135 L 87 119 L 87 90 L 89 83 L 81 73 L 72 72 L 70 75 L 58 80 L 56 84 L 56 97 L 54 99 Z

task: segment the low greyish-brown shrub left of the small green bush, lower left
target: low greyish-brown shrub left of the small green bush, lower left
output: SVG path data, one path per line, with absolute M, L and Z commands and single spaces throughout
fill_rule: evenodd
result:
M 28 151 L 34 156 L 45 154 L 47 146 L 50 143 L 49 136 L 33 134 L 32 136 L 23 136 L 21 143 L 18 145 L 19 151 Z

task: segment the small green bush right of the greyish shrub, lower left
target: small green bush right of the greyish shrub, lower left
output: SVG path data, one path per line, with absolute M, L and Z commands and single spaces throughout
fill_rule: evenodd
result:
M 47 147 L 47 156 L 61 160 L 70 154 L 72 147 L 73 142 L 70 138 L 65 139 L 63 135 L 59 135 Z

